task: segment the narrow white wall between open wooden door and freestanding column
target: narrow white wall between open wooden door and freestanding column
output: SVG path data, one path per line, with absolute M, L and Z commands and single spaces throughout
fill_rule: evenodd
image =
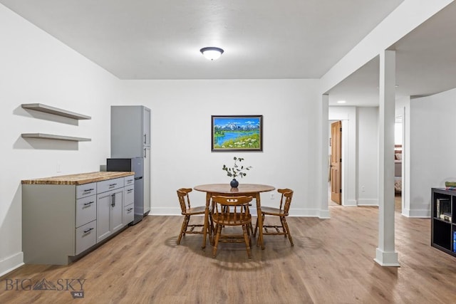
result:
M 378 107 L 360 107 L 357 110 L 358 205 L 378 206 Z

